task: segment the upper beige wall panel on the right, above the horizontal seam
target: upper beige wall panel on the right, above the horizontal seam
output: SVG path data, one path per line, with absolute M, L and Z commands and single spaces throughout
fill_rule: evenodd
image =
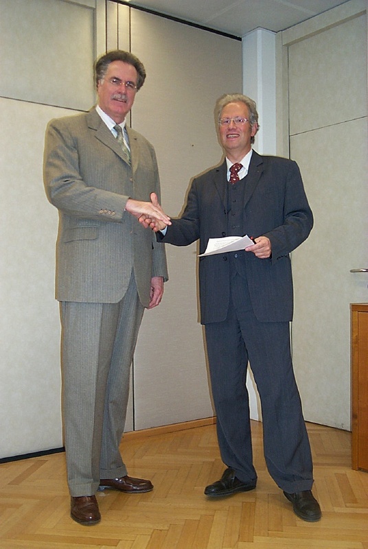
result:
M 289 48 L 291 135 L 365 116 L 365 27 L 360 15 Z

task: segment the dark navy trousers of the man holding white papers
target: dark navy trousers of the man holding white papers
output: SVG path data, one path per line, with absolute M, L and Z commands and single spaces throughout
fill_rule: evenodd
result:
M 246 389 L 249 361 L 261 399 L 268 471 L 288 493 L 310 490 L 312 456 L 292 369 L 289 323 L 260 323 L 246 280 L 236 274 L 227 319 L 207 324 L 205 333 L 222 461 L 240 480 L 256 480 Z

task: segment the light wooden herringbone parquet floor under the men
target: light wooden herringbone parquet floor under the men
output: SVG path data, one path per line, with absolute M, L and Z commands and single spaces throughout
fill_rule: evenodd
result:
M 308 523 L 266 471 L 262 423 L 254 421 L 257 489 L 208 500 L 220 478 L 215 425 L 124 437 L 129 474 L 150 478 L 154 491 L 97 493 L 102 521 L 69 517 L 65 455 L 0 465 L 1 549 L 368 549 L 368 473 L 351 469 L 351 434 L 309 423 L 314 495 L 323 511 Z

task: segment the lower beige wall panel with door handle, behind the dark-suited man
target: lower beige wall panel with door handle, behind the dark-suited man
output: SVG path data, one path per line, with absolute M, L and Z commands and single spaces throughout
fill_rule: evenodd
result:
M 349 429 L 349 303 L 368 301 L 367 274 L 349 272 L 368 267 L 367 119 L 292 137 L 290 154 L 314 212 L 310 237 L 292 254 L 292 349 L 304 414 Z

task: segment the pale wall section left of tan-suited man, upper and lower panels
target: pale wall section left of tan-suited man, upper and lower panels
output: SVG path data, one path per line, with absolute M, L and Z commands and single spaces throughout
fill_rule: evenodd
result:
M 94 100 L 95 2 L 85 4 L 0 1 L 0 457 L 62 446 L 58 214 L 43 191 L 43 139 L 49 119 Z

